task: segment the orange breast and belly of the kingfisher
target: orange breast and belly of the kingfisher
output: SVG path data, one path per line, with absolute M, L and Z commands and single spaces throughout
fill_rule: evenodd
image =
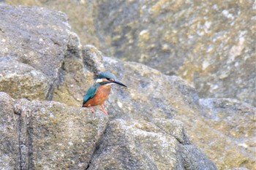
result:
M 94 107 L 97 105 L 102 105 L 105 102 L 105 100 L 108 98 L 110 90 L 111 90 L 110 85 L 99 86 L 94 97 L 90 98 L 88 101 L 86 101 L 86 103 L 83 106 L 84 107 Z

